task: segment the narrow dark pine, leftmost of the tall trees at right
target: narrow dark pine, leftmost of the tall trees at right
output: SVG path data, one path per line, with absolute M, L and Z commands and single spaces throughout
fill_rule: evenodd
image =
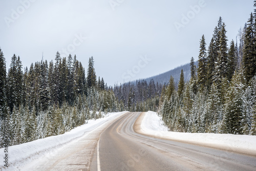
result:
M 200 51 L 199 51 L 199 57 L 198 57 L 198 83 L 203 89 L 206 85 L 207 80 L 207 60 L 206 60 L 206 48 L 205 48 L 205 38 L 204 35 L 202 36 L 202 39 L 200 40 Z

